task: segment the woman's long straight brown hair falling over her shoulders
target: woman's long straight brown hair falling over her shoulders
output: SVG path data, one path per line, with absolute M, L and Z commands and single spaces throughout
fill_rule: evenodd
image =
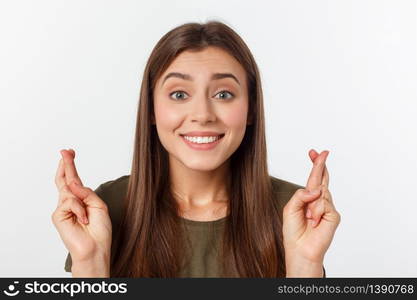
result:
M 112 243 L 111 277 L 179 277 L 184 232 L 169 189 L 168 154 L 153 116 L 156 81 L 184 50 L 220 47 L 245 69 L 251 124 L 230 157 L 228 217 L 219 263 L 223 277 L 285 277 L 282 219 L 267 168 L 260 75 L 242 38 L 218 22 L 186 23 L 166 33 L 146 64 L 123 218 Z

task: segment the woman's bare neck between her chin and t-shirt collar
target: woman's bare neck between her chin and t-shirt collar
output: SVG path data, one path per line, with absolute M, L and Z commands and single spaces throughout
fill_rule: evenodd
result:
M 171 189 L 181 206 L 206 207 L 228 201 L 229 161 L 210 171 L 193 170 L 169 158 Z

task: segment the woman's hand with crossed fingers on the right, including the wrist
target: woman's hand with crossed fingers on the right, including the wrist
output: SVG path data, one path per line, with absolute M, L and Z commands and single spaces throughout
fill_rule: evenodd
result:
M 287 277 L 322 277 L 324 254 L 330 246 L 340 214 L 334 207 L 326 159 L 329 151 L 309 151 L 313 168 L 305 189 L 299 189 L 283 211 L 283 239 Z M 318 191 L 309 194 L 309 191 Z

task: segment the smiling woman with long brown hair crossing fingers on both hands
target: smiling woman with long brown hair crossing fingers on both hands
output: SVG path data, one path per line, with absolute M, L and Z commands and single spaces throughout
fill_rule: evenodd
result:
M 52 215 L 74 277 L 322 277 L 340 222 L 328 151 L 307 186 L 269 176 L 259 71 L 220 22 L 157 43 L 140 92 L 130 176 L 84 187 L 62 150 Z

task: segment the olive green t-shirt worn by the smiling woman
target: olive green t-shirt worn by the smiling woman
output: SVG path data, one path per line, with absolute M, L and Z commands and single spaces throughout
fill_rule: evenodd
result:
M 295 191 L 305 188 L 282 179 L 270 176 L 272 190 L 281 207 L 284 207 Z M 112 239 L 115 240 L 117 228 L 122 218 L 122 201 L 127 194 L 129 175 L 101 184 L 95 192 L 103 199 L 109 209 L 112 222 Z M 191 242 L 191 252 L 188 264 L 181 270 L 180 277 L 222 277 L 218 264 L 218 252 L 222 244 L 222 232 L 227 217 L 214 221 L 194 221 L 180 217 L 187 228 Z M 71 272 L 71 255 L 68 253 L 65 261 L 65 271 Z M 324 276 L 326 277 L 323 267 Z

